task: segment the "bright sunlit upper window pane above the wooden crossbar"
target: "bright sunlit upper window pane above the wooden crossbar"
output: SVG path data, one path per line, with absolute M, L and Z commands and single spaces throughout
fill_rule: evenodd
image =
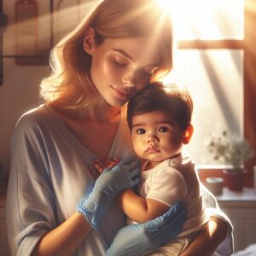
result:
M 158 2 L 172 16 L 178 40 L 243 38 L 244 0 Z

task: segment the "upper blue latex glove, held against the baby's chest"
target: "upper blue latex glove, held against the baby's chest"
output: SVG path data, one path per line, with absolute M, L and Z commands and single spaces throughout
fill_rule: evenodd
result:
M 92 228 L 96 229 L 116 195 L 123 189 L 137 185 L 140 172 L 139 161 L 131 155 L 112 169 L 104 169 L 89 197 L 80 201 L 77 211 L 84 214 Z

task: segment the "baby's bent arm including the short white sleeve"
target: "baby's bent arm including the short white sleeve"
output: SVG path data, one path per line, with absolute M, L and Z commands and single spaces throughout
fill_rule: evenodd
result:
M 149 187 L 146 196 L 141 197 L 132 189 L 125 189 L 118 195 L 125 214 L 138 223 L 159 217 L 187 195 L 186 183 L 177 169 L 166 166 L 146 172 L 150 172 L 148 182 L 143 184 L 144 188 Z

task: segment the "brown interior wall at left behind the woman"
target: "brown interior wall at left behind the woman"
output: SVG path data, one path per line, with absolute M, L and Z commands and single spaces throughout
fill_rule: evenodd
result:
M 15 124 L 22 113 L 36 108 L 43 102 L 39 97 L 39 84 L 50 72 L 47 61 L 40 65 L 16 63 L 15 3 L 18 1 L 3 0 L 3 13 L 8 16 L 9 23 L 3 32 L 3 85 L 0 85 L 0 184 L 7 182 L 9 145 Z M 74 26 L 84 19 L 84 15 L 96 0 L 53 1 L 53 15 L 50 15 L 49 0 L 34 0 L 33 3 L 36 3 L 38 8 L 38 16 L 35 19 L 38 55 L 45 55 L 49 52 L 51 44 L 57 44 L 60 38 L 72 31 Z M 27 49 L 27 45 L 32 45 L 31 41 L 29 43 L 23 46 Z

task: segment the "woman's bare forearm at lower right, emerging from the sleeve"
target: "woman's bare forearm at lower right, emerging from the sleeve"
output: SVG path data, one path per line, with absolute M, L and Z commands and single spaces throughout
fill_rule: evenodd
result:
M 189 247 L 181 254 L 182 256 L 207 256 L 212 255 L 221 241 L 227 236 L 228 226 L 220 218 L 210 218 L 207 229 L 195 237 Z

